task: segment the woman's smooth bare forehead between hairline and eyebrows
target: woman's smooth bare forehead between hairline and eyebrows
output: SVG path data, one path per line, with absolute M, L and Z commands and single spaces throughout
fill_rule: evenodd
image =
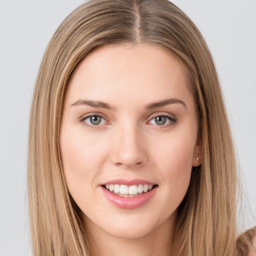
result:
M 141 103 L 191 96 L 185 67 L 170 52 L 138 43 L 107 45 L 88 53 L 74 69 L 66 97 Z

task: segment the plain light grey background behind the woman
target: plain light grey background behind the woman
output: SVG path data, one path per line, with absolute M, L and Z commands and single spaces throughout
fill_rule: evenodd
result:
M 26 202 L 29 106 L 45 47 L 82 0 L 0 0 L 0 256 L 31 255 Z M 256 1 L 175 0 L 213 54 L 246 196 L 256 214 Z M 248 213 L 248 209 L 245 213 Z M 246 214 L 244 228 L 256 224 Z

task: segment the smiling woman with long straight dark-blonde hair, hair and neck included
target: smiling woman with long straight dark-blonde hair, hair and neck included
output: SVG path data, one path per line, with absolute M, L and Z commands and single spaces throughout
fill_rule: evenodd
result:
M 34 255 L 246 255 L 217 74 L 167 0 L 92 0 L 44 54 L 29 130 Z M 253 255 L 253 254 L 252 254 Z

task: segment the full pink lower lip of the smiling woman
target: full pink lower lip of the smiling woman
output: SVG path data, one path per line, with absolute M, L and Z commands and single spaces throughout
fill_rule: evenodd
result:
M 114 206 L 122 209 L 134 209 L 145 204 L 156 192 L 156 188 L 133 197 L 123 197 L 110 192 L 109 190 L 101 187 L 106 199 Z

